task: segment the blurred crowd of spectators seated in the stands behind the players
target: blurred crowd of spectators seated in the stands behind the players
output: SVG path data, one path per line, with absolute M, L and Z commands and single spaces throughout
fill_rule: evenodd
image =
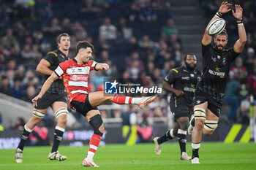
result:
M 207 16 L 217 11 L 216 2 L 200 0 Z M 242 2 L 248 43 L 230 72 L 243 98 L 249 94 L 243 91 L 248 85 L 256 88 L 255 4 Z M 90 91 L 103 90 L 102 80 L 116 77 L 134 82 L 143 78 L 142 85 L 160 85 L 170 69 L 184 64 L 171 7 L 170 0 L 1 0 L 0 93 L 31 102 L 42 85 L 36 66 L 46 53 L 56 50 L 56 37 L 64 32 L 72 37 L 70 58 L 75 57 L 78 41 L 87 40 L 95 47 L 93 59 L 110 65 L 109 72 L 91 73 Z M 227 33 L 232 42 L 238 34 L 236 22 L 231 20 Z M 147 112 L 138 112 L 166 117 L 166 98 L 160 97 L 156 103 L 159 109 L 149 106 Z M 104 112 L 102 117 L 121 117 L 126 111 Z M 80 119 L 79 114 L 74 115 Z

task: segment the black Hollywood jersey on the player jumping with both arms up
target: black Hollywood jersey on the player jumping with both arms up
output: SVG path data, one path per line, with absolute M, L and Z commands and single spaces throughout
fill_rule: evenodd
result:
M 197 88 L 215 100 L 222 101 L 230 72 L 230 64 L 239 54 L 233 48 L 219 51 L 211 44 L 202 44 L 203 77 Z

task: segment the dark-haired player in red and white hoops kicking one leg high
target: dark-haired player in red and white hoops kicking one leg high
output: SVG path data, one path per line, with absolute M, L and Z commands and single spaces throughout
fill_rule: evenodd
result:
M 103 91 L 88 93 L 88 80 L 91 70 L 107 72 L 109 69 L 107 63 L 90 61 L 93 50 L 94 46 L 91 43 L 87 41 L 78 42 L 75 58 L 60 63 L 58 68 L 45 81 L 42 90 L 32 101 L 34 106 L 37 106 L 37 101 L 40 101 L 39 99 L 50 88 L 50 85 L 55 80 L 58 80 L 59 77 L 62 77 L 67 95 L 69 96 L 69 106 L 85 116 L 86 120 L 94 128 L 94 134 L 91 136 L 89 151 L 83 160 L 83 166 L 99 167 L 94 163 L 93 158 L 105 130 L 97 107 L 107 101 L 113 101 L 116 104 L 138 104 L 138 107 L 143 109 L 147 104 L 154 101 L 157 95 L 132 98 L 117 94 L 106 95 Z

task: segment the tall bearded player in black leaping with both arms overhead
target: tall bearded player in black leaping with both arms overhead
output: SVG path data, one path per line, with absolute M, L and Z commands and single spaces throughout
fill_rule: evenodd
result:
M 222 2 L 219 11 L 210 23 L 222 17 L 222 14 L 229 12 L 232 4 Z M 225 87 L 230 64 L 243 51 L 246 43 L 246 31 L 242 16 L 243 9 L 235 5 L 236 11 L 232 10 L 234 18 L 238 23 L 239 39 L 232 48 L 225 50 L 227 45 L 227 33 L 222 31 L 214 36 L 215 47 L 211 45 L 212 37 L 208 35 L 207 28 L 202 39 L 203 55 L 203 77 L 195 90 L 194 116 L 189 125 L 189 133 L 192 132 L 192 160 L 191 163 L 200 163 L 198 150 L 202 139 L 202 132 L 210 136 L 217 128 L 222 99 L 225 95 Z M 209 24 L 210 24 L 209 23 Z M 208 24 L 208 26 L 209 26 Z M 195 125 L 195 127 L 194 127 Z

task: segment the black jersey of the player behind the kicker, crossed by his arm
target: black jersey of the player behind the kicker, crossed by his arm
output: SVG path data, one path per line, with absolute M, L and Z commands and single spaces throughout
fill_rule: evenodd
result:
M 67 61 L 70 58 L 66 56 L 64 53 L 62 53 L 61 50 L 54 50 L 47 53 L 44 59 L 50 63 L 49 69 L 54 71 L 59 66 L 59 63 Z M 48 77 L 50 77 L 50 75 L 45 75 L 44 79 L 47 80 Z M 47 93 L 66 93 L 62 80 L 55 80 L 53 84 L 50 86 Z

